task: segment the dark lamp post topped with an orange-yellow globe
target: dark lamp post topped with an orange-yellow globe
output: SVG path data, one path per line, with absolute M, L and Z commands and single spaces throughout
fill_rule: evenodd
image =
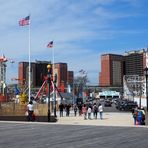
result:
M 47 77 L 48 77 L 48 113 L 47 113 L 47 115 L 48 115 L 48 122 L 50 122 L 50 117 L 51 117 L 51 115 L 50 115 L 50 85 L 51 85 L 51 65 L 50 64 L 48 64 L 47 65 L 47 69 L 48 69 L 48 74 L 47 74 Z

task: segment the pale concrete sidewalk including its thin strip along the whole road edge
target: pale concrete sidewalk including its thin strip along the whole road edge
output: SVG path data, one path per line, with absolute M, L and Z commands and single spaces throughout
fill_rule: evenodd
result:
M 98 114 L 99 115 L 99 114 Z M 47 117 L 44 116 L 47 120 Z M 94 126 L 116 126 L 116 127 L 146 127 L 148 125 L 134 125 L 133 116 L 131 113 L 127 112 L 104 112 L 103 120 L 98 116 L 97 119 L 87 119 L 84 120 L 82 116 L 74 116 L 73 113 L 70 113 L 69 117 L 59 117 L 59 112 L 57 112 L 57 122 L 48 122 L 48 121 L 37 121 L 37 122 L 26 122 L 25 120 L 0 120 L 0 122 L 12 122 L 12 123 L 25 123 L 25 124 L 60 124 L 60 125 L 94 125 Z

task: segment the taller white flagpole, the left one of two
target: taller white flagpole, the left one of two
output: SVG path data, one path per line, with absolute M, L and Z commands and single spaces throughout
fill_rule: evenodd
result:
M 29 55 L 29 71 L 28 71 L 28 100 L 30 101 L 30 86 L 31 86 L 31 64 L 30 64 L 30 52 L 31 52 L 31 25 L 30 25 L 30 19 L 29 19 L 29 50 L 28 50 L 28 55 Z

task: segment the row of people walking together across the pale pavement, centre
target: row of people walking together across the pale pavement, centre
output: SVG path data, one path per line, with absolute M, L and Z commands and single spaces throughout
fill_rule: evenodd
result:
M 69 116 L 70 110 L 74 111 L 74 116 L 84 115 L 84 119 L 92 119 L 92 114 L 94 119 L 97 119 L 98 112 L 100 114 L 100 119 L 103 119 L 103 106 L 101 104 L 74 104 L 73 106 L 70 104 L 59 105 L 60 117 L 63 117 L 64 111 L 66 112 L 66 116 Z

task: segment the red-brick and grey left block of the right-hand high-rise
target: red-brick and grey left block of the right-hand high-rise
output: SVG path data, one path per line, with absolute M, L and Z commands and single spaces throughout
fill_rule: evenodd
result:
M 121 86 L 123 77 L 123 56 L 104 54 L 101 56 L 100 86 Z

